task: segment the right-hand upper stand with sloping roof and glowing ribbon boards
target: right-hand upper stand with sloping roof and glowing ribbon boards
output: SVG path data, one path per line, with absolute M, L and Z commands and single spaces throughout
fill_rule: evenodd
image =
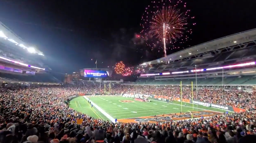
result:
M 135 85 L 252 89 L 256 85 L 256 29 L 218 38 L 140 64 Z

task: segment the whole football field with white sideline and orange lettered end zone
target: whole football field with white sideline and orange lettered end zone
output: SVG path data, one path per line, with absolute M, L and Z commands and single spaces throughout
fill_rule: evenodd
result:
M 94 105 L 93 107 L 88 103 L 88 99 Z M 171 103 L 156 100 L 140 102 L 121 96 L 87 96 L 77 97 L 70 101 L 70 107 L 76 111 L 104 120 L 116 118 L 119 122 L 126 123 L 183 120 L 191 119 L 192 116 L 193 118 L 209 117 L 225 112 L 222 109 L 202 105 L 194 104 L 194 108 L 192 106 L 191 103 L 185 105 L 184 102 L 181 105 L 178 101 L 172 101 Z M 182 115 L 180 115 L 180 112 L 182 112 Z M 186 112 L 187 114 L 184 114 Z M 189 112 L 192 112 L 192 116 L 188 114 Z M 165 117 L 163 117 L 163 114 Z M 157 119 L 154 115 L 157 116 Z

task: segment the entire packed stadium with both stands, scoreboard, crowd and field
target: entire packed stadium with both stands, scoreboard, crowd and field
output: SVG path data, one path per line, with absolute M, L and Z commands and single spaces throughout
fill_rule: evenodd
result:
M 142 63 L 136 82 L 111 80 L 112 69 L 99 68 L 58 78 L 43 65 L 42 52 L 2 23 L 0 44 L 0 105 L 6 119 L 1 129 L 10 134 L 31 137 L 35 128 L 65 140 L 75 137 L 75 130 L 91 137 L 93 130 L 117 135 L 128 127 L 143 136 L 159 128 L 197 137 L 210 129 L 238 131 L 239 125 L 246 134 L 255 133 L 256 29 Z

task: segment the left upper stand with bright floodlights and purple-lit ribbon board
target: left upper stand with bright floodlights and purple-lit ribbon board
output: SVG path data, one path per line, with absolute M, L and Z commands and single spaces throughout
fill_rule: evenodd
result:
M 43 52 L 24 42 L 0 22 L 0 81 L 4 85 L 58 84 L 64 81 L 53 76 L 44 65 Z

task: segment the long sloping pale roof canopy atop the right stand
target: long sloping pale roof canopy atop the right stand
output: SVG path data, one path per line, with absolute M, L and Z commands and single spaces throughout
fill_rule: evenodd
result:
M 205 42 L 202 44 L 198 44 L 196 46 L 192 46 L 190 48 L 181 50 L 179 52 L 169 54 L 166 57 L 145 62 L 143 64 L 158 64 L 158 63 L 167 62 L 167 61 L 171 62 L 174 60 L 179 60 L 182 58 L 194 56 L 196 54 L 211 52 L 211 51 L 219 50 L 221 48 L 235 46 L 235 45 L 243 44 L 243 43 L 254 41 L 254 40 L 256 40 L 256 28 L 252 30 L 244 31 L 244 32 L 239 32 L 237 34 L 225 36 L 222 38 L 218 38 L 215 40 L 211 40 L 209 42 Z

